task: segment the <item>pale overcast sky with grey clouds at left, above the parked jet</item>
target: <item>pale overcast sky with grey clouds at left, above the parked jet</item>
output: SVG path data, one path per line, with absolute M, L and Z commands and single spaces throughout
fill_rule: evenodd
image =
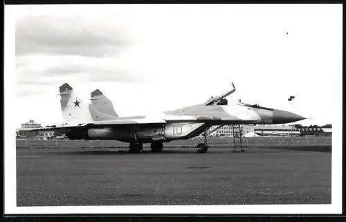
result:
M 342 6 L 21 6 L 15 28 L 17 126 L 63 122 L 59 86 L 119 115 L 228 97 L 333 119 L 342 76 Z M 295 96 L 293 102 L 287 99 Z

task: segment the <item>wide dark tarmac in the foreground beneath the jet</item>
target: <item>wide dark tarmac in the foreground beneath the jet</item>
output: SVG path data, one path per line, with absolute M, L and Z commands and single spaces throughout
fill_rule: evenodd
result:
M 17 149 L 18 206 L 331 203 L 330 149 L 39 148 Z

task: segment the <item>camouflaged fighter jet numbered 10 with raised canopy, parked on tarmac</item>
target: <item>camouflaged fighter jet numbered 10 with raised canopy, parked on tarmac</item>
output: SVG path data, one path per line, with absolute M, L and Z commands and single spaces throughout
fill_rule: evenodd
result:
M 151 143 L 153 152 L 163 149 L 163 142 L 185 140 L 204 134 L 204 143 L 197 145 L 199 153 L 208 151 L 208 129 L 226 124 L 284 124 L 305 118 L 278 109 L 238 102 L 228 105 L 226 96 L 233 89 L 206 102 L 156 115 L 119 117 L 111 101 L 99 90 L 91 93 L 91 104 L 80 100 L 73 88 L 65 83 L 60 86 L 60 104 L 63 118 L 69 122 L 64 127 L 49 128 L 60 131 L 70 140 L 119 140 L 129 143 L 131 153 L 143 149 L 143 143 Z M 33 131 L 45 131 L 45 128 Z

